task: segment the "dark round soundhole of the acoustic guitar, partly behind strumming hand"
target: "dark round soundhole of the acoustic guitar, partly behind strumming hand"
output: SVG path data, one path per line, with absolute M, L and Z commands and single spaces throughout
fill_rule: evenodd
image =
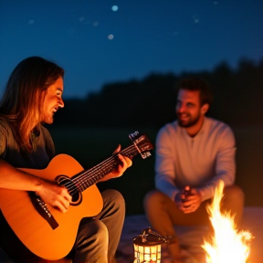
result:
M 64 185 L 68 189 L 69 195 L 72 196 L 72 202 L 70 205 L 79 205 L 82 200 L 82 195 L 79 192 L 79 188 L 76 184 L 66 175 L 59 175 L 57 177 L 59 185 Z

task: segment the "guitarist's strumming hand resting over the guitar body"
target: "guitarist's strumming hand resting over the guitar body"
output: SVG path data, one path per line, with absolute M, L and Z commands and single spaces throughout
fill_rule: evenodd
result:
M 47 205 L 56 207 L 62 213 L 68 211 L 68 206 L 72 200 L 67 188 L 47 181 L 43 181 L 43 184 L 41 184 L 36 194 L 39 195 Z

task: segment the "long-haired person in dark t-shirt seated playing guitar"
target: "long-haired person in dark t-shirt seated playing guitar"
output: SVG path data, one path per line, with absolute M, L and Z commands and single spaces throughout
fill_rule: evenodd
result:
M 0 188 L 35 192 L 47 205 L 67 213 L 71 195 L 66 187 L 16 169 L 44 169 L 55 156 L 54 143 L 44 125 L 51 124 L 56 111 L 64 107 L 63 78 L 63 68 L 39 57 L 24 59 L 11 73 L 0 101 Z M 120 149 L 119 146 L 116 152 Z M 121 176 L 132 165 L 128 157 L 118 157 L 121 164 L 101 181 Z M 79 224 L 70 253 L 74 263 L 115 262 L 124 200 L 115 190 L 106 190 L 101 195 L 100 214 L 85 217 Z M 16 237 L 2 213 L 0 233 L 0 246 L 16 262 L 41 262 Z

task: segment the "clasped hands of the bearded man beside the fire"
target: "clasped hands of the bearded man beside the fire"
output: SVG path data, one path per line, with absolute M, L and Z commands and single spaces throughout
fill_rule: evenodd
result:
M 187 185 L 175 196 L 175 203 L 181 211 L 189 214 L 195 212 L 201 205 L 201 195 L 195 188 Z

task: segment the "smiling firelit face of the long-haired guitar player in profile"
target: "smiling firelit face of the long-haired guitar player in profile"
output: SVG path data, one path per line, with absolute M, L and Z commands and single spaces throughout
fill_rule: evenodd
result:
M 64 107 L 62 100 L 63 79 L 59 77 L 52 85 L 47 88 L 47 93 L 43 103 L 42 121 L 50 124 L 53 122 L 53 115 L 59 109 Z

